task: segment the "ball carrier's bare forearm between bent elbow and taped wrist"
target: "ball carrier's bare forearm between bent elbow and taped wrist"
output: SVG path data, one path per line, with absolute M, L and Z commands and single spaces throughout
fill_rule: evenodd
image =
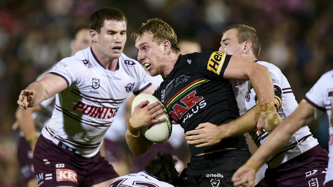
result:
M 259 105 L 274 102 L 274 87 L 272 78 L 266 67 L 259 64 L 251 66 L 248 77 L 258 96 Z

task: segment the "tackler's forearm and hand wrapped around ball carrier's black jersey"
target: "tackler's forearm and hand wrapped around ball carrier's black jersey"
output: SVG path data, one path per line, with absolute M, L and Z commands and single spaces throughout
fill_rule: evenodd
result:
M 260 108 L 254 106 L 242 116 L 225 124 L 217 126 L 211 123 L 200 123 L 195 130 L 187 131 L 185 138 L 188 144 L 193 144 L 195 147 L 214 145 L 224 138 L 255 129 L 259 117 Z

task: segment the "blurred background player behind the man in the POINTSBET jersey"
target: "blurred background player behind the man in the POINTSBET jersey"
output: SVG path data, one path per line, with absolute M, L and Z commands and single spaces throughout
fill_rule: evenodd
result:
M 78 26 L 71 41 L 71 56 L 76 52 L 89 47 L 91 44 L 90 32 L 88 26 Z M 51 70 L 48 69 L 39 75 L 36 81 L 39 81 L 45 74 Z M 28 187 L 37 186 L 35 173 L 33 170 L 33 150 L 40 135 L 42 128 L 49 122 L 54 109 L 55 96 L 44 100 L 39 105 L 27 110 L 18 109 L 15 113 L 16 120 L 20 126 L 20 138 L 18 140 L 17 154 L 21 166 L 22 175 Z

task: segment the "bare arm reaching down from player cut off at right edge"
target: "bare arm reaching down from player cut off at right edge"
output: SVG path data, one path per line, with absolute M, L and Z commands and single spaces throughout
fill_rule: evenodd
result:
M 305 100 L 302 100 L 296 110 L 267 137 L 251 158 L 233 175 L 234 186 L 252 186 L 256 172 L 259 168 L 288 141 L 299 128 L 314 119 L 314 109 Z

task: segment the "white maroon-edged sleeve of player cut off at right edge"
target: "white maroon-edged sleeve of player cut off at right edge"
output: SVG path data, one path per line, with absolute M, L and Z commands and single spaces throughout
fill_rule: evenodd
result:
M 325 86 L 326 81 L 324 75 L 313 85 L 309 92 L 305 94 L 304 99 L 317 109 L 325 110 Z

